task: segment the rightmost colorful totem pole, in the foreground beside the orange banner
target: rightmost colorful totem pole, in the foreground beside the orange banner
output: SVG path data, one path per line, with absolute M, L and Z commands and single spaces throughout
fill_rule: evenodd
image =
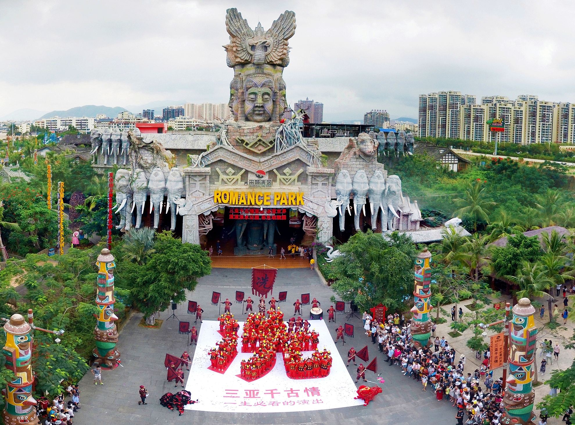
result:
M 535 390 L 531 385 L 534 375 L 534 354 L 537 328 L 533 315 L 535 307 L 528 298 L 522 298 L 513 306 L 513 318 L 509 330 L 509 376 L 503 397 L 505 411 L 500 423 L 503 425 L 534 425 L 533 403 Z M 536 366 L 535 366 L 536 367 Z

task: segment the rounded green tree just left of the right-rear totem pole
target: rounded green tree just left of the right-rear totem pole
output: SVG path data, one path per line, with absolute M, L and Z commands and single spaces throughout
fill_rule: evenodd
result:
M 344 255 L 330 264 L 332 289 L 344 301 L 366 309 L 384 304 L 390 310 L 402 307 L 413 292 L 413 260 L 417 249 L 406 235 L 356 233 L 339 246 Z

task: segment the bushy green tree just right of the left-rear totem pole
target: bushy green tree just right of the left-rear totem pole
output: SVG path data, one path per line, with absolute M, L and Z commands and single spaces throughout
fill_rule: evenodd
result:
M 182 244 L 171 231 L 156 233 L 155 253 L 143 265 L 124 261 L 117 276 L 129 289 L 133 306 L 144 313 L 146 323 L 154 324 L 156 314 L 186 299 L 186 291 L 196 288 L 198 278 L 209 275 L 212 261 L 200 245 Z

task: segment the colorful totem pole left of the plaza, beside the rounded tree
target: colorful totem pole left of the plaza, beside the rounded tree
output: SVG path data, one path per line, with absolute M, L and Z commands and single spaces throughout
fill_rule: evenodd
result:
M 96 347 L 92 353 L 93 362 L 98 362 L 102 368 L 115 369 L 120 364 L 120 351 L 116 350 L 118 330 L 114 320 L 114 256 L 108 248 L 102 249 L 96 261 L 98 266 L 98 292 L 96 305 L 99 313 L 94 315 L 97 319 L 94 329 Z

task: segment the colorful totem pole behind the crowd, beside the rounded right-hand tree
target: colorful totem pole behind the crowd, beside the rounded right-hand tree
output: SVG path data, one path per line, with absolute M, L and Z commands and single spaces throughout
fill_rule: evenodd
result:
M 415 281 L 413 284 L 413 319 L 409 331 L 413 336 L 413 345 L 427 347 L 431 336 L 431 253 L 425 248 L 415 259 Z

